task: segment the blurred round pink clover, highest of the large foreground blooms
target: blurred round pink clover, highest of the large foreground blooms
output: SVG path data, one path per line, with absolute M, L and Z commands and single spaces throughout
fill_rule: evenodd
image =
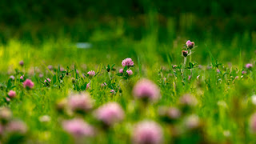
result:
M 135 98 L 145 99 L 146 101 L 156 101 L 161 97 L 158 86 L 148 79 L 138 81 L 134 86 L 133 93 Z

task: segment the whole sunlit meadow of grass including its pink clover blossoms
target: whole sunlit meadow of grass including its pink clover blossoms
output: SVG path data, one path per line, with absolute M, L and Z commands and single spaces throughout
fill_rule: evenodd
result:
M 174 35 L 134 40 L 117 27 L 88 49 L 65 37 L 0 45 L 1 142 L 255 143 L 255 34 Z

